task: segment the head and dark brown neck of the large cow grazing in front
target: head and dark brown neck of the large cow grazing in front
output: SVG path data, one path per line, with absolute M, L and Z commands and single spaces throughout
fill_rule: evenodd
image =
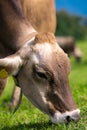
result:
M 24 95 L 53 123 L 78 121 L 80 110 L 68 81 L 69 59 L 52 33 L 37 32 L 30 24 L 24 2 L 28 0 L 0 1 L 0 80 L 5 85 L 8 76 L 15 77 Z

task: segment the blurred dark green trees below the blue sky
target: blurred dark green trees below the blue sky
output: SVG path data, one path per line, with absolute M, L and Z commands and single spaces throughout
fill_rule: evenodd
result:
M 87 37 L 87 19 L 81 16 L 70 15 L 65 11 L 56 12 L 56 35 L 73 36 L 76 39 Z

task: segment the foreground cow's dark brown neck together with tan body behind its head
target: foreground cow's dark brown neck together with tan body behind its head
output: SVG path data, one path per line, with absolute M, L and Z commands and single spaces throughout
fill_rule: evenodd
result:
M 0 42 L 5 49 L 4 56 L 16 52 L 27 35 L 35 32 L 31 25 L 38 32 L 55 32 L 54 0 L 0 1 Z

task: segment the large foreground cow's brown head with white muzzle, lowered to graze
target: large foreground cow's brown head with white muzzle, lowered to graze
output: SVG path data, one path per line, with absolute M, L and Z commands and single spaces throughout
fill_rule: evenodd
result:
M 37 34 L 17 53 L 0 59 L 0 67 L 17 77 L 25 96 L 52 122 L 79 120 L 68 82 L 69 59 L 53 34 Z

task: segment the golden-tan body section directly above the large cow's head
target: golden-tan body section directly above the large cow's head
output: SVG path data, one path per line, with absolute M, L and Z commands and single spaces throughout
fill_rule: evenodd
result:
M 55 33 L 56 12 L 54 0 L 23 0 L 25 17 L 38 32 Z

